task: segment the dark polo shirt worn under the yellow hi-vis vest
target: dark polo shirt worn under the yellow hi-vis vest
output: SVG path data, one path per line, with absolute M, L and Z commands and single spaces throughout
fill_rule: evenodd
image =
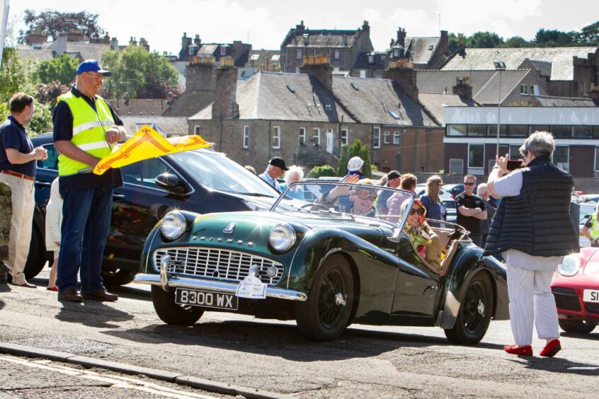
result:
M 75 97 L 83 97 L 86 103 L 95 111 L 97 96 L 89 98 L 85 96 L 81 91 L 77 90 L 75 86 L 71 87 L 71 91 Z M 110 104 L 110 114 L 113 115 L 115 125 L 122 126 L 122 120 Z M 52 122 L 54 122 L 54 141 L 73 139 L 73 113 L 69 105 L 64 101 L 59 101 L 54 108 L 52 114 Z M 122 186 L 122 175 L 120 174 L 119 168 L 110 168 L 103 173 L 103 175 L 95 175 L 93 173 L 80 173 L 77 175 L 62 176 L 59 180 L 60 189 L 64 190 L 68 187 L 73 188 L 95 188 L 95 187 L 120 187 Z

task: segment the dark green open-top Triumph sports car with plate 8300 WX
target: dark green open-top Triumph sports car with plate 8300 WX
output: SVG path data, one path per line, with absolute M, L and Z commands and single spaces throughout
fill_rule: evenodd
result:
M 309 200 L 297 199 L 298 187 Z M 351 207 L 362 187 L 369 216 Z M 289 190 L 295 199 L 283 201 Z M 152 284 L 156 313 L 173 325 L 227 311 L 295 319 L 312 340 L 360 323 L 438 326 L 451 342 L 477 344 L 491 318 L 508 318 L 505 267 L 445 223 L 434 229 L 443 248 L 435 270 L 403 231 L 407 215 L 377 211 L 384 190 L 414 200 L 388 187 L 312 180 L 287 187 L 268 212 L 170 212 L 149 234 L 135 282 Z M 348 195 L 327 201 L 333 192 Z

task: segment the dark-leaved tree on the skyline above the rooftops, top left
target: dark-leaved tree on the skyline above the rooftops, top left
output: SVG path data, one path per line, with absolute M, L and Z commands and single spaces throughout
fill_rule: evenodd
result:
M 61 13 L 54 10 L 42 11 L 39 14 L 33 10 L 25 10 L 23 22 L 28 26 L 27 31 L 19 32 L 18 42 L 25 43 L 25 39 L 32 30 L 40 30 L 42 35 L 51 36 L 56 40 L 69 30 L 80 30 L 87 37 L 100 37 L 104 30 L 98 25 L 98 14 L 79 11 L 78 13 Z

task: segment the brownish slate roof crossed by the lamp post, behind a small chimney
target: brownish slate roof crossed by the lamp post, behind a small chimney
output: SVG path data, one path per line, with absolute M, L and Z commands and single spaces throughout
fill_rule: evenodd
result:
M 520 84 L 527 74 L 532 73 L 530 69 L 515 69 L 501 72 L 502 101 L 516 86 Z M 481 104 L 497 104 L 499 90 L 499 73 L 496 70 L 486 71 L 450 71 L 443 69 L 418 70 L 416 75 L 416 86 L 418 93 L 452 93 L 455 86 L 456 76 L 462 79 L 469 76 L 472 86 L 472 99 Z

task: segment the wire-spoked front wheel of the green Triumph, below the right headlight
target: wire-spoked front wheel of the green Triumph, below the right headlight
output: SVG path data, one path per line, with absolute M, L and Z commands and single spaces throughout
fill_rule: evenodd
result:
M 305 302 L 295 306 L 300 333 L 309 340 L 334 340 L 350 323 L 353 274 L 346 258 L 331 255 L 314 277 Z

